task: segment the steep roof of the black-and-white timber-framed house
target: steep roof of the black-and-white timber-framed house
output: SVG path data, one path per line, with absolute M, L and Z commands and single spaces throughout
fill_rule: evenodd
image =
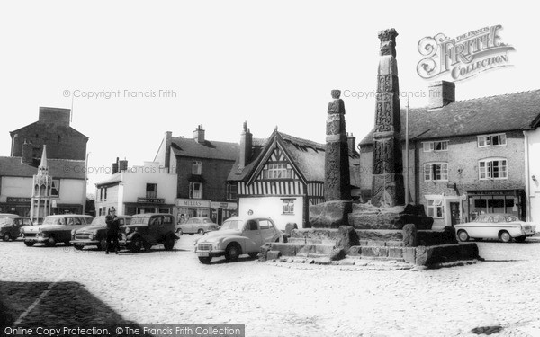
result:
M 284 150 L 291 156 L 293 164 L 296 165 L 308 182 L 324 182 L 326 145 L 293 137 L 277 130 L 267 139 L 253 138 L 252 154 L 246 167 L 243 170 L 238 169 L 239 158 L 237 155 L 237 160 L 230 170 L 228 180 L 232 182 L 247 182 L 266 154 L 266 146 L 269 146 L 269 143 L 273 143 L 276 137 L 281 139 Z M 357 158 L 358 156 L 358 153 L 355 151 L 349 157 Z M 351 173 L 353 172 L 351 171 Z M 351 181 L 355 182 L 352 177 Z

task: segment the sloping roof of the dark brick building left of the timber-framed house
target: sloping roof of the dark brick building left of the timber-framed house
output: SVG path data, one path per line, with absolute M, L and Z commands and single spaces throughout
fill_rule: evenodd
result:
M 198 143 L 193 138 L 172 137 L 171 148 L 175 155 L 206 159 L 222 159 L 234 161 L 238 157 L 238 143 L 205 140 Z

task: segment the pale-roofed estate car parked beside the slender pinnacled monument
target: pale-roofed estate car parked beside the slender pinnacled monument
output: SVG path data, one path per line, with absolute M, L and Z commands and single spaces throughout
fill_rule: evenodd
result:
M 24 244 L 31 247 L 36 243 L 54 247 L 57 243 L 69 245 L 71 231 L 89 225 L 94 217 L 79 214 L 48 216 L 38 226 L 25 226 L 21 234 Z

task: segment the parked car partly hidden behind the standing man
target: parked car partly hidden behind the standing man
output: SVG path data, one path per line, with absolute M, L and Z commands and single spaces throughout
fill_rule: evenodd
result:
M 105 217 L 95 217 L 90 226 L 85 226 L 71 231 L 71 241 L 73 246 L 81 250 L 85 245 L 95 245 L 99 251 L 107 247 L 107 224 Z M 130 225 L 130 216 L 118 216 L 120 226 Z

